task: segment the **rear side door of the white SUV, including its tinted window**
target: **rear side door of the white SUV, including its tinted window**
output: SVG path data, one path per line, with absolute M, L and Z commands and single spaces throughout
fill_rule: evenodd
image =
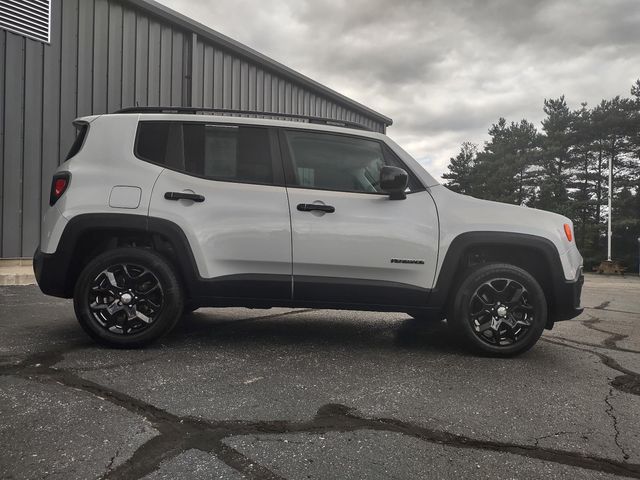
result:
M 136 154 L 165 170 L 149 215 L 187 237 L 207 296 L 291 298 L 291 228 L 276 133 L 204 122 L 145 122 Z

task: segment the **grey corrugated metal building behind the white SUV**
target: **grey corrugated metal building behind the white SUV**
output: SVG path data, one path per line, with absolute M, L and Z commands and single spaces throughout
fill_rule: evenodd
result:
M 195 106 L 391 119 L 150 0 L 0 1 L 0 258 L 30 257 L 74 118 Z

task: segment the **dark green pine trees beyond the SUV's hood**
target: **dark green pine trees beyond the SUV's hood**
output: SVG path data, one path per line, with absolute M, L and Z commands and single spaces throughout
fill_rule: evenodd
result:
M 609 161 L 613 163 L 612 258 L 638 271 L 640 80 L 630 97 L 572 110 L 544 100 L 542 128 L 500 118 L 482 148 L 464 142 L 442 178 L 451 190 L 557 212 L 574 222 L 585 270 L 607 258 Z

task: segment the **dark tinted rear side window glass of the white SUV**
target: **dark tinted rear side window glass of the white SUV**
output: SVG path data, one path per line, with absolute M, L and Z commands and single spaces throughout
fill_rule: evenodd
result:
M 269 132 L 196 122 L 140 122 L 136 155 L 212 180 L 274 182 Z

